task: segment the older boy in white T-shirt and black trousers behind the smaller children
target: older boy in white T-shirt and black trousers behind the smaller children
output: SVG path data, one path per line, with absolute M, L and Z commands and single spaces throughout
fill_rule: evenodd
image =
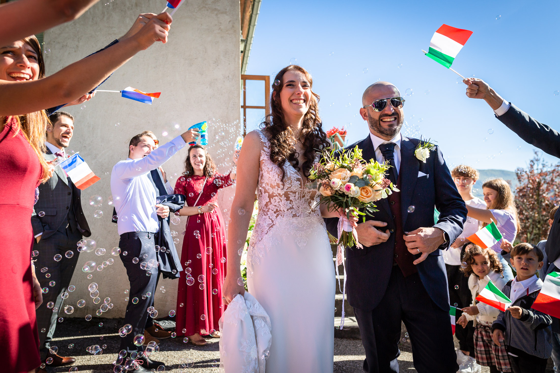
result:
M 455 181 L 455 186 L 459 191 L 465 204 L 477 209 L 486 209 L 486 203 L 473 196 L 473 186 L 479 178 L 476 169 L 461 164 L 451 170 L 451 177 Z M 444 251 L 445 268 L 447 270 L 447 283 L 449 284 L 449 301 L 452 306 L 464 308 L 470 305 L 471 294 L 469 290 L 468 277 L 461 272 L 461 251 L 464 252 L 465 244 L 469 243 L 466 239 L 477 232 L 481 223 L 474 218 L 466 218 L 463 233 L 451 244 L 451 247 Z M 457 317 L 459 318 L 458 313 Z M 459 350 L 457 351 L 457 363 L 460 373 L 472 373 L 478 371 L 479 366 L 474 358 L 474 326 L 470 321 L 466 328 L 456 328 L 455 337 L 459 339 Z

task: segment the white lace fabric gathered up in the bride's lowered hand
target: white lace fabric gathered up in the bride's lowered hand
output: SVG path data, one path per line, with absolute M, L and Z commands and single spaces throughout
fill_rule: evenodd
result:
M 272 343 L 270 318 L 245 291 L 227 306 L 220 321 L 220 373 L 264 373 Z

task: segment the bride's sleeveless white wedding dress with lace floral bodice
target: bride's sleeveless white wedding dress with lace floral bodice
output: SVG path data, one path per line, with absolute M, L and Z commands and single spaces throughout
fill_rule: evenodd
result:
M 333 371 L 333 254 L 319 209 L 319 193 L 290 163 L 282 172 L 260 135 L 259 214 L 247 255 L 250 294 L 272 324 L 267 373 Z

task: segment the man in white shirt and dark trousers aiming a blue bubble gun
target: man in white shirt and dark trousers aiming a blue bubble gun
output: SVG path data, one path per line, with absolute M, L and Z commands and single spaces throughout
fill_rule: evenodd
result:
M 115 164 L 111 173 L 111 193 L 118 216 L 120 258 L 127 268 L 130 281 L 130 300 L 124 324 L 132 325 L 132 332 L 126 334 L 120 344 L 120 350 L 126 350 L 128 356 L 142 351 L 147 309 L 153 305 L 152 295 L 159 276 L 156 252 L 159 248 L 155 247 L 154 240 L 159 228 L 157 216 L 169 216 L 169 207 L 156 205 L 156 190 L 148 173 L 164 164 L 186 143 L 197 138 L 197 129 L 188 130 L 156 149 L 150 135 L 136 135 L 130 140 L 128 158 Z M 136 370 L 138 373 L 150 372 L 163 365 L 146 356 L 141 360 L 143 364 Z

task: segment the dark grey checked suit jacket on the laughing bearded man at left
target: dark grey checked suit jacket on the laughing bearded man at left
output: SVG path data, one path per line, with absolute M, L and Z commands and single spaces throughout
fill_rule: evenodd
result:
M 44 156 L 47 161 L 56 158 L 48 148 Z M 41 239 L 45 239 L 54 232 L 57 232 L 60 225 L 67 224 L 67 211 L 72 206 L 78 231 L 83 236 L 90 237 L 90 226 L 83 215 L 80 196 L 81 190 L 74 186 L 74 183 L 66 176 L 62 167 L 57 165 L 53 176 L 45 183 L 39 185 L 39 200 L 31 214 L 33 235 L 42 232 Z M 41 211 L 45 213 L 44 215 L 41 214 L 43 216 L 39 216 Z

